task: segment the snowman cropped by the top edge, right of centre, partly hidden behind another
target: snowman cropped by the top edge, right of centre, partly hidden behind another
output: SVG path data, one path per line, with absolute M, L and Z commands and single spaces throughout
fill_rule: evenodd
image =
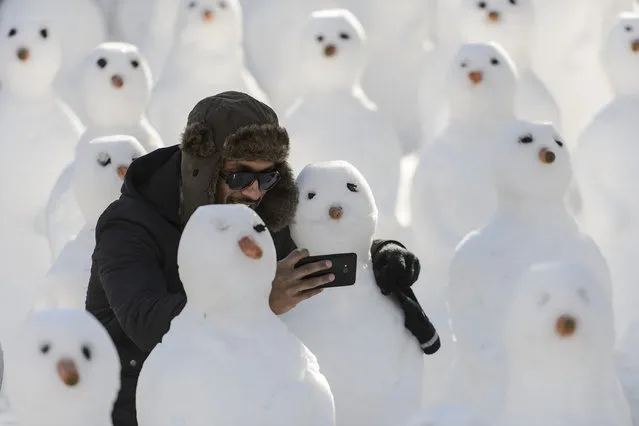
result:
M 561 129 L 561 113 L 548 88 L 532 69 L 534 0 L 464 0 L 460 32 L 467 43 L 495 41 L 513 59 L 519 72 L 515 114 L 522 120 L 550 121 Z

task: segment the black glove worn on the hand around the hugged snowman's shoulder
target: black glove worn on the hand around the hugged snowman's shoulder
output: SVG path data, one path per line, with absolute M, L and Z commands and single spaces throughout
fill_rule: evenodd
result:
M 384 295 L 409 288 L 419 278 L 419 259 L 397 241 L 375 241 L 371 258 L 375 281 Z

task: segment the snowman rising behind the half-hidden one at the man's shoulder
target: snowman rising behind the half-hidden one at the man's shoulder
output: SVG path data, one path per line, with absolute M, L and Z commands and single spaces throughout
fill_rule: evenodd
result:
M 146 152 L 163 146 L 144 108 L 151 93 L 151 74 L 138 49 L 127 43 L 103 43 L 85 58 L 79 82 L 87 121 L 77 147 L 101 136 L 130 135 Z M 100 99 L 100 102 L 96 102 Z M 46 232 L 54 258 L 82 228 L 83 217 L 71 190 L 73 157 L 49 194 Z M 69 163 L 69 161 L 71 161 Z

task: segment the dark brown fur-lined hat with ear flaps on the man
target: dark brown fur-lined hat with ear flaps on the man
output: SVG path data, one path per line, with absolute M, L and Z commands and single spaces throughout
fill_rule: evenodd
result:
M 271 231 L 291 223 L 298 191 L 287 163 L 288 133 L 275 112 L 240 92 L 223 92 L 195 105 L 182 134 L 182 222 L 199 206 L 215 202 L 225 160 L 272 161 L 280 180 L 256 209 Z

